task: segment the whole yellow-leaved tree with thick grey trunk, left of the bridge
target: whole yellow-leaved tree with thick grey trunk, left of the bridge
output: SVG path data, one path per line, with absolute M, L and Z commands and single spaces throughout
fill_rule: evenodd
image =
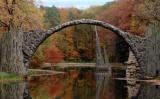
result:
M 27 74 L 23 63 L 23 30 L 42 28 L 43 14 L 33 0 L 0 0 L 1 71 Z

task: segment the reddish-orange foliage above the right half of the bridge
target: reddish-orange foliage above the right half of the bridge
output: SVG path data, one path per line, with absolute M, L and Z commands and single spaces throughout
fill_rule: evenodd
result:
M 135 16 L 135 9 L 139 2 L 138 0 L 118 0 L 98 15 L 97 18 L 111 23 L 124 31 L 142 36 L 144 30 L 142 31 L 141 27 L 144 27 L 144 25 L 142 22 L 140 25 L 138 18 Z

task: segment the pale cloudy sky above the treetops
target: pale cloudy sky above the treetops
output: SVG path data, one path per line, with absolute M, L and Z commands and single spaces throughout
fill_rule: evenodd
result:
M 103 5 L 106 2 L 114 0 L 37 0 L 38 5 L 52 6 L 56 7 L 76 7 L 79 9 L 85 9 L 93 5 Z

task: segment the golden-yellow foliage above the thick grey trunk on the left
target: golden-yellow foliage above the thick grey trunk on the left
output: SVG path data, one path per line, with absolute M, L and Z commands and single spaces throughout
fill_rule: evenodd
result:
M 7 1 L 7 0 L 6 0 Z M 0 20 L 6 24 L 22 26 L 24 30 L 43 28 L 43 11 L 37 8 L 34 0 L 0 0 Z M 12 13 L 11 13 L 12 11 Z

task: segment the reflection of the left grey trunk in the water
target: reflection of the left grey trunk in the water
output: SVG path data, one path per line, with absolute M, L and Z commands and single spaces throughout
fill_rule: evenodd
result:
M 28 83 L 0 83 L 0 99 L 32 99 Z

